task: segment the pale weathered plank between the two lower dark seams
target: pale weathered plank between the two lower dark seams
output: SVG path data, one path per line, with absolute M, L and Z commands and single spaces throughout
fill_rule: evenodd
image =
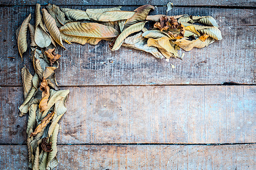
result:
M 59 144 L 255 142 L 256 86 L 101 86 L 71 90 Z M 22 87 L 0 89 L 0 143 L 26 140 Z

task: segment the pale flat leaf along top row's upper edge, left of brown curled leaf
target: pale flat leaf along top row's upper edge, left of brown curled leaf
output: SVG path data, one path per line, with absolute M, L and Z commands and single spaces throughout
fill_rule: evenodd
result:
M 86 11 L 90 19 L 100 22 L 114 22 L 117 20 L 125 20 L 131 18 L 135 12 L 133 11 L 105 11 L 102 13 L 94 13 Z

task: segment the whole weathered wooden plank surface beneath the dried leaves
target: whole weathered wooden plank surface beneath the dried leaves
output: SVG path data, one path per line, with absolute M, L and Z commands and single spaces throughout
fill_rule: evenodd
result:
M 168 1 L 1 0 L 0 169 L 27 169 L 15 29 L 34 18 L 36 2 L 81 10 L 150 3 L 154 15 L 165 14 Z M 170 62 L 123 47 L 112 52 L 105 41 L 66 44 L 56 74 L 71 92 L 56 169 L 256 169 L 255 1 L 172 2 L 171 15 L 213 16 L 223 40 Z

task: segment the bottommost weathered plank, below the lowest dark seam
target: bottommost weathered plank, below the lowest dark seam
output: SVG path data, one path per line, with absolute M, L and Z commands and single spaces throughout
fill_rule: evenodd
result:
M 256 145 L 58 146 L 56 169 L 255 169 Z M 0 146 L 1 169 L 27 169 L 26 146 Z

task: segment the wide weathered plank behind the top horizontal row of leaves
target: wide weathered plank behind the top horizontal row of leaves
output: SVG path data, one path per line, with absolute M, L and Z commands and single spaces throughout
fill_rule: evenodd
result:
M 86 7 L 73 7 L 85 10 Z M 134 10 L 135 7 L 124 7 Z M 158 7 L 152 14 L 164 14 Z M 0 86 L 21 85 L 20 63 L 15 29 L 34 7 L 1 7 Z M 144 52 L 121 48 L 112 52 L 108 42 L 96 46 L 71 44 L 61 52 L 57 80 L 68 85 L 99 84 L 221 84 L 237 82 L 255 84 L 255 10 L 220 8 L 184 8 L 172 10 L 173 15 L 210 15 L 216 18 L 224 37 L 204 49 L 185 52 L 183 61 L 159 61 Z M 182 51 L 180 52 L 180 54 Z M 15 59 L 7 58 L 15 57 Z M 109 62 L 110 60 L 113 63 Z M 31 69 L 28 52 L 24 63 Z M 171 63 L 175 65 L 172 69 Z M 32 70 L 32 69 L 31 69 Z

